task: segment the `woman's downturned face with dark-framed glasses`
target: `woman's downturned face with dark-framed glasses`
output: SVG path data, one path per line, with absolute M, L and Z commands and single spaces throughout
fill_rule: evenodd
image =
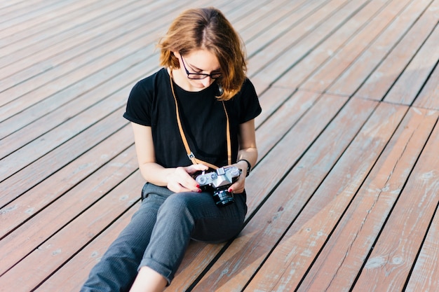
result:
M 186 55 L 174 52 L 174 55 L 180 62 L 180 69 L 177 71 L 180 75 L 180 83 L 183 84 L 179 85 L 185 90 L 200 91 L 208 88 L 215 81 L 212 76 L 216 77 L 221 73 L 217 57 L 208 50 L 193 50 Z M 203 79 L 192 79 L 196 78 L 193 74 L 208 74 L 209 76 Z

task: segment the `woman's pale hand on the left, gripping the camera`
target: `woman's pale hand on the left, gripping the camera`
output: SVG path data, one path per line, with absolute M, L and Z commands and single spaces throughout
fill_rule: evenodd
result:
M 201 192 L 200 186 L 191 174 L 198 171 L 207 170 L 205 165 L 189 165 L 187 167 L 177 167 L 168 175 L 167 187 L 174 193 L 182 192 Z

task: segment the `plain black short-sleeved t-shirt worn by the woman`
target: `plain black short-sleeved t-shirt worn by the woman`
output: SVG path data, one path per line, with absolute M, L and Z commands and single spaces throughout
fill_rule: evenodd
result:
M 180 120 L 195 157 L 218 167 L 227 165 L 226 114 L 214 82 L 200 92 L 188 92 L 173 83 Z M 229 115 L 232 162 L 238 156 L 239 124 L 252 120 L 262 109 L 252 83 L 246 79 L 241 91 L 224 102 Z M 151 126 L 156 162 L 163 167 L 191 165 L 177 125 L 175 101 L 168 71 L 163 68 L 139 81 L 131 90 L 123 117 Z

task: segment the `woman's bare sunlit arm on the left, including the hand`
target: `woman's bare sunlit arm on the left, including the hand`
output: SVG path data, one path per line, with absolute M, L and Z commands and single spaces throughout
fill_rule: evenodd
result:
M 198 192 L 200 189 L 190 174 L 198 170 L 206 170 L 204 165 L 189 167 L 165 168 L 156 163 L 151 127 L 131 123 L 134 132 L 135 149 L 140 173 L 149 183 L 166 186 L 175 193 L 184 191 Z

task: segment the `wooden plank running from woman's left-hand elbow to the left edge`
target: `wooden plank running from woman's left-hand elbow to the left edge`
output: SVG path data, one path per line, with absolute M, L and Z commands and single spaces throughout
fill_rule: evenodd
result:
M 108 165 L 104 165 L 93 176 L 84 179 L 65 193 L 55 194 L 54 200 L 48 201 L 43 211 L 35 213 L 29 220 L 1 239 L 1 270 L 3 274 L 27 254 L 37 249 L 53 234 L 79 216 L 84 210 L 95 204 L 102 196 L 115 188 L 119 182 L 130 176 L 137 169 L 134 147 L 117 155 Z M 139 187 L 138 187 L 139 188 Z M 137 194 L 139 190 L 137 190 Z M 106 199 L 104 199 L 106 200 Z M 27 198 L 23 198 L 26 202 Z M 29 199 L 29 207 L 40 207 L 35 197 Z M 116 213 L 115 213 L 116 214 Z M 20 214 L 19 214 L 20 215 Z M 99 217 L 100 213 L 95 213 Z

